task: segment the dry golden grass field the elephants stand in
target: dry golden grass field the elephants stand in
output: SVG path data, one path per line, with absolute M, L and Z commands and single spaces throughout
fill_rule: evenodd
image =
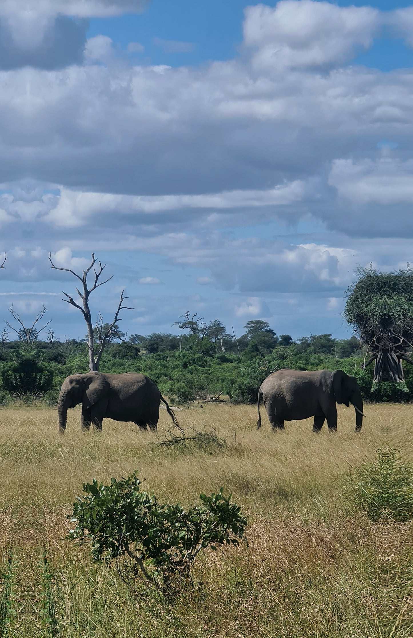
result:
M 272 434 L 266 417 L 255 431 L 253 406 L 205 404 L 177 416 L 184 428 L 213 429 L 216 444 L 167 449 L 156 445 L 157 435 L 110 420 L 101 434 L 82 435 L 79 410 L 69 411 L 63 438 L 54 410 L 1 410 L 3 572 L 11 547 L 18 561 L 16 614 L 4 635 L 411 637 L 413 528 L 370 523 L 352 511 L 343 484 L 385 442 L 413 459 L 413 406 L 367 405 L 365 413 L 358 435 L 353 410 L 342 406 L 337 434 L 312 434 L 310 420 Z M 163 410 L 159 436 L 169 427 Z M 153 591 L 134 598 L 114 568 L 94 565 L 85 549 L 63 540 L 83 482 L 136 469 L 161 500 L 192 505 L 223 486 L 248 516 L 248 544 L 201 556 L 193 585 L 173 603 Z M 41 616 L 42 549 L 56 628 Z

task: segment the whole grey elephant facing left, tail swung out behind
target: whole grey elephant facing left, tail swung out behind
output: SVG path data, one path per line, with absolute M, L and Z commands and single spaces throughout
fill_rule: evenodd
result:
M 79 403 L 82 403 L 82 431 L 89 431 L 91 424 L 101 430 L 105 418 L 132 421 L 142 431 L 147 426 L 156 430 L 161 401 L 167 406 L 167 412 L 177 426 L 173 410 L 156 383 L 147 376 L 133 372 L 124 375 L 100 372 L 71 375 L 64 380 L 57 403 L 59 433 L 64 434 L 66 430 L 68 408 L 74 408 Z

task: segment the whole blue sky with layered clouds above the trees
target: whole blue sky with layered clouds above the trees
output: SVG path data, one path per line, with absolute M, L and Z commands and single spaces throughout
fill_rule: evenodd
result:
M 407 1 L 2 3 L 3 317 L 83 336 L 48 256 L 94 251 L 129 334 L 189 309 L 348 336 L 357 266 L 411 261 L 412 70 Z

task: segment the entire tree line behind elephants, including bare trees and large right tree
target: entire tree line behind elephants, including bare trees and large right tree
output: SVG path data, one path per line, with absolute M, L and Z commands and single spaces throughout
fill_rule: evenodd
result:
M 87 334 L 79 341 L 66 339 L 63 343 L 56 339 L 50 322 L 41 325 L 47 311 L 44 305 L 29 327 L 11 306 L 15 325 L 6 324 L 18 339 L 9 341 L 6 329 L 0 333 L 0 392 L 5 401 L 10 396 L 56 394 L 65 376 L 87 369 L 143 372 L 177 401 L 189 401 L 206 392 L 225 392 L 232 400 L 253 401 L 265 376 L 280 367 L 340 367 L 357 376 L 366 400 L 406 400 L 413 392 L 413 271 L 409 265 L 387 274 L 372 267 L 359 269 L 347 290 L 343 313 L 356 333 L 350 339 L 319 334 L 294 341 L 290 334 L 276 334 L 263 319 L 246 322 L 245 332 L 236 334 L 233 326 L 227 329 L 218 319 L 207 323 L 190 311 L 174 322 L 178 334 L 128 336 L 119 327 L 121 311 L 133 309 L 124 304 L 124 291 L 112 321 L 104 322 L 101 313 L 96 322 L 92 320 L 91 294 L 112 279 L 103 277 L 105 265 L 94 253 L 82 273 L 56 267 L 51 255 L 49 260 L 50 268 L 69 272 L 81 282 L 75 286 L 75 294 L 63 292 L 63 301 L 82 313 Z M 6 255 L 0 269 L 5 263 Z M 47 338 L 41 341 L 43 335 Z

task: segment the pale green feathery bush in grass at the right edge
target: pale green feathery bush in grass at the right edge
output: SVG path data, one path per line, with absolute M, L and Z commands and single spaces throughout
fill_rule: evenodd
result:
M 352 470 L 347 496 L 370 521 L 413 519 L 413 464 L 397 450 L 380 449 L 374 461 Z

